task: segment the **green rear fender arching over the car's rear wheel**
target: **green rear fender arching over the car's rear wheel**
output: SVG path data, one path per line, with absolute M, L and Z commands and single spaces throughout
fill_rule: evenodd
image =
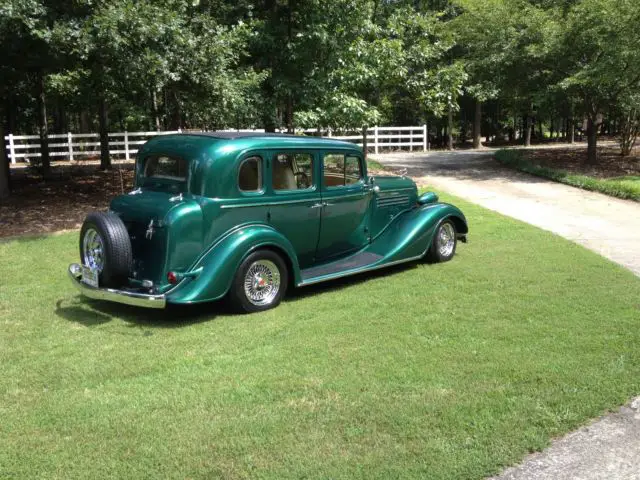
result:
M 217 300 L 229 291 L 233 277 L 244 258 L 259 248 L 276 250 L 290 267 L 294 282 L 300 282 L 298 258 L 291 243 L 273 227 L 265 224 L 236 227 L 213 245 L 193 264 L 190 272 L 167 294 L 169 303 L 197 303 Z

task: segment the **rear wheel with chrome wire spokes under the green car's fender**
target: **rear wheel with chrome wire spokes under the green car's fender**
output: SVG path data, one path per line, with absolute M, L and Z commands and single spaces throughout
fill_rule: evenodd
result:
M 287 290 L 287 266 L 277 253 L 258 250 L 240 264 L 229 299 L 241 312 L 260 312 L 277 306 Z

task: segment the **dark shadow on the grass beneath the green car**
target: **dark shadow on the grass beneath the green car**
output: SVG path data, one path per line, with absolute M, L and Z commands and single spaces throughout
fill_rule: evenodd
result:
M 394 265 L 385 269 L 351 275 L 336 280 L 318 283 L 303 288 L 289 289 L 285 303 L 294 303 L 314 295 L 355 287 L 376 278 L 382 278 L 402 271 L 412 270 L 418 262 Z M 213 321 L 219 317 L 235 315 L 225 300 L 198 303 L 194 305 L 168 304 L 163 310 L 146 309 L 120 303 L 93 300 L 77 295 L 72 300 L 61 299 L 56 302 L 55 314 L 85 327 L 96 327 L 114 319 L 148 328 L 182 328 L 190 325 Z

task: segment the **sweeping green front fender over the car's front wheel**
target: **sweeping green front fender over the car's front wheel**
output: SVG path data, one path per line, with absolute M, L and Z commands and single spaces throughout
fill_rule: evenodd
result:
M 458 233 L 468 233 L 460 209 L 448 203 L 427 204 L 399 215 L 374 240 L 371 251 L 383 256 L 384 263 L 421 257 L 431 246 L 438 224 L 448 218 Z

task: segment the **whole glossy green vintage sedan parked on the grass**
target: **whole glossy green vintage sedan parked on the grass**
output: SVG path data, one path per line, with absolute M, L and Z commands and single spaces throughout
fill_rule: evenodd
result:
M 188 133 L 145 143 L 135 190 L 87 216 L 87 297 L 142 307 L 227 296 L 241 311 L 289 287 L 427 257 L 466 241 L 462 212 L 405 177 L 369 176 L 362 149 L 319 137 Z

